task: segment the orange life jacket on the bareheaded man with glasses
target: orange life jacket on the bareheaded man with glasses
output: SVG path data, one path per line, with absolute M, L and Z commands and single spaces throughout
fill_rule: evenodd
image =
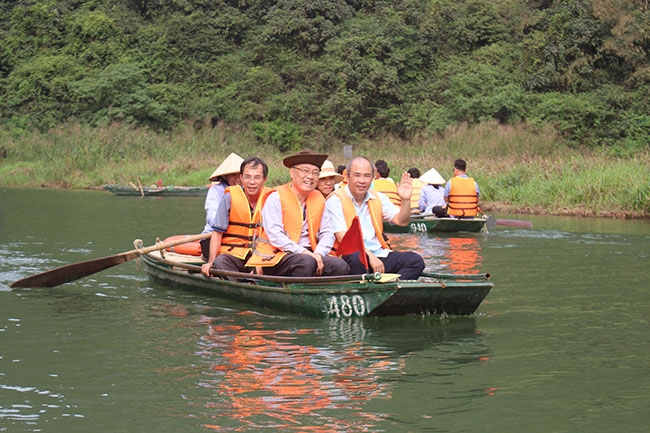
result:
M 226 192 L 230 193 L 230 215 L 228 229 L 221 238 L 219 254 L 231 254 L 244 260 L 253 247 L 253 237 L 259 235 L 262 206 L 273 189 L 262 188 L 252 212 L 248 198 L 240 185 L 229 186 Z

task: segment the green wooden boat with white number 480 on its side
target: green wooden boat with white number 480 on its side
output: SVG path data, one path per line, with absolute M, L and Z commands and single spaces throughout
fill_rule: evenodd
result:
M 141 258 L 160 285 L 310 317 L 468 315 L 494 286 L 489 274 L 423 273 L 400 281 L 380 274 L 305 279 L 212 270 L 208 278 L 198 257 L 155 251 Z

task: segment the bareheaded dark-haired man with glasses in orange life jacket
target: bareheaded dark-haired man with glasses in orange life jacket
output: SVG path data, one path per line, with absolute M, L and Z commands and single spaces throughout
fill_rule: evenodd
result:
M 261 159 L 243 160 L 240 172 L 241 184 L 225 189 L 214 217 L 208 260 L 201 266 L 201 272 L 208 277 L 211 268 L 252 270 L 246 268 L 246 261 L 260 231 L 262 205 L 273 189 L 264 186 L 269 168 Z

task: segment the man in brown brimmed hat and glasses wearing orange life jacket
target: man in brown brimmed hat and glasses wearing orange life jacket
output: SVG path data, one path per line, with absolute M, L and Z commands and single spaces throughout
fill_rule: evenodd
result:
M 334 232 L 325 198 L 316 190 L 327 155 L 304 149 L 284 158 L 291 182 L 276 188 L 262 208 L 262 235 L 249 266 L 265 275 L 347 275 L 350 268 L 329 255 Z

